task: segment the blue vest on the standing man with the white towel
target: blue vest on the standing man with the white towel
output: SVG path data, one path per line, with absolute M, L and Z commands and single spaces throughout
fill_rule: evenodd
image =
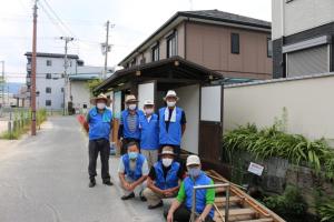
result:
M 176 109 L 176 121 L 169 122 L 168 132 L 166 131 L 166 123 L 165 123 L 165 110 L 168 108 L 161 108 L 159 110 L 159 143 L 160 144 L 170 144 L 170 145 L 180 145 L 181 142 L 181 115 L 183 109 Z

